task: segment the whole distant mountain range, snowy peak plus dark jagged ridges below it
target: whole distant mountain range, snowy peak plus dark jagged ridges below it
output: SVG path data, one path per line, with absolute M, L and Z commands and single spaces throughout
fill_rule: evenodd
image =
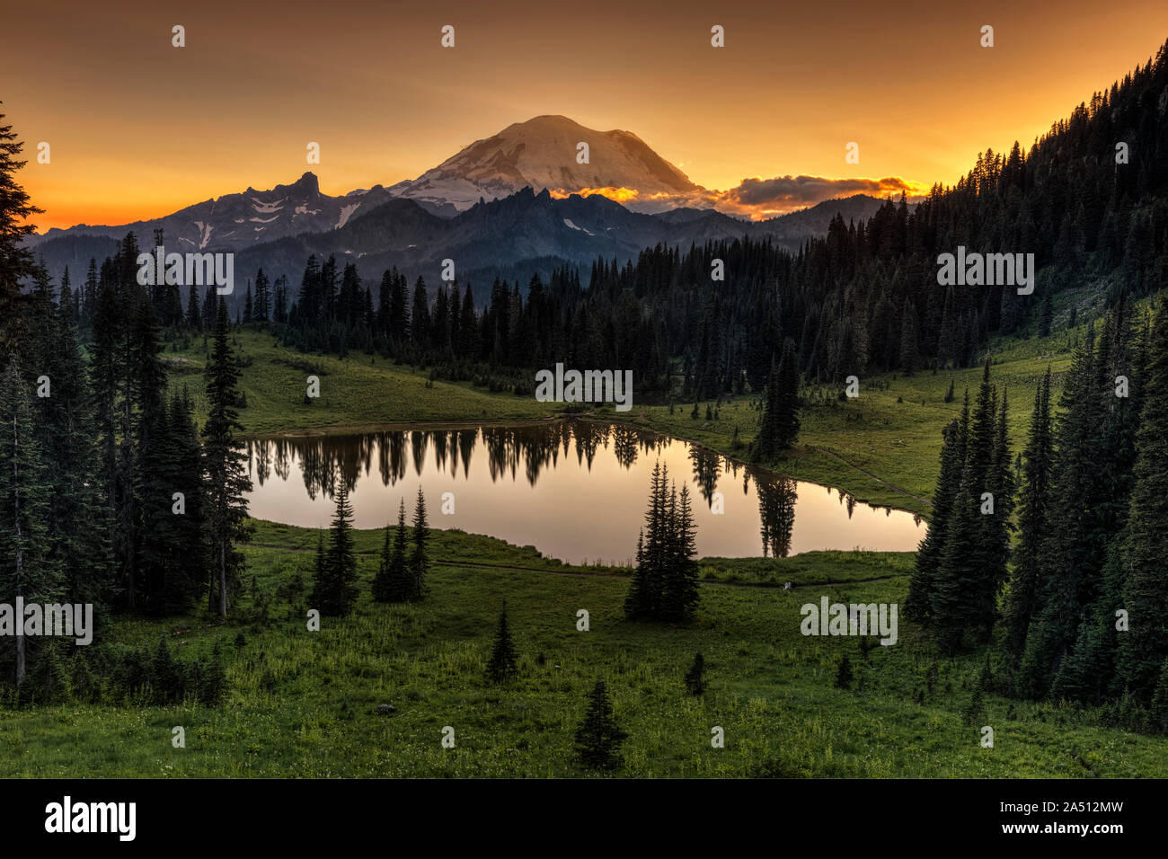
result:
M 576 159 L 580 140 L 589 143 L 588 164 Z M 150 248 L 161 229 L 167 251 L 234 251 L 237 278 L 263 266 L 298 284 L 310 254 L 334 254 L 370 279 L 394 265 L 436 278 L 450 258 L 463 280 L 507 276 L 526 283 L 534 271 L 597 257 L 624 262 L 658 243 L 688 248 L 749 235 L 795 249 L 826 233 L 836 214 L 867 219 L 882 202 L 857 194 L 769 221 L 693 206 L 659 210 L 661 201 L 701 200 L 703 192 L 635 134 L 536 117 L 389 188 L 329 196 L 305 173 L 271 190 L 248 188 L 151 221 L 50 229 L 28 243 L 54 278 L 68 265 L 75 282 L 91 257 L 100 262 L 126 233 Z

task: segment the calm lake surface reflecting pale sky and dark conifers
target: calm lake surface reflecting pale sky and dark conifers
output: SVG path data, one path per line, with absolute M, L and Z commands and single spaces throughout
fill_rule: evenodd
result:
M 688 483 L 703 556 L 785 557 L 813 549 L 916 549 L 924 521 L 837 490 L 776 477 L 689 442 L 625 425 L 387 430 L 249 442 L 251 515 L 327 527 L 349 487 L 355 526 L 412 515 L 418 486 L 437 528 L 489 534 L 570 563 L 628 562 L 660 460 Z M 443 496 L 451 493 L 443 513 Z M 721 507 L 722 512 L 716 512 Z

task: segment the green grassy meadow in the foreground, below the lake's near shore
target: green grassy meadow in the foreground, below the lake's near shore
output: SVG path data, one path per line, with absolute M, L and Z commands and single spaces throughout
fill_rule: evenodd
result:
M 0 767 L 20 776 L 570 776 L 572 734 L 585 694 L 607 681 L 631 739 L 624 775 L 709 776 L 1163 776 L 1168 741 L 1093 727 L 1089 716 L 989 697 L 982 718 L 962 711 L 979 654 L 936 660 L 939 679 L 923 704 L 934 661 L 902 624 L 901 643 L 876 647 L 864 665 L 855 640 L 805 638 L 799 607 L 833 601 L 899 602 L 911 555 L 812 553 L 769 561 L 776 576 L 841 584 L 783 591 L 703 584 L 696 623 L 672 629 L 630 624 L 627 580 L 604 575 L 438 564 L 431 596 L 408 607 L 368 597 L 378 532 L 357 535 L 362 597 L 353 617 L 308 632 L 287 603 L 272 621 L 249 623 L 243 600 L 223 628 L 178 636 L 192 658 L 218 639 L 231 664 L 228 702 L 202 707 L 64 706 L 5 712 Z M 259 590 L 307 573 L 315 532 L 260 524 L 248 549 Z M 279 547 L 279 548 L 273 548 Z M 434 555 L 557 568 L 530 549 L 488 538 L 436 532 Z M 707 564 L 718 562 L 708 559 Z M 564 569 L 559 567 L 559 569 Z M 748 574 L 751 574 L 748 571 Z M 764 571 L 764 575 L 766 573 Z M 861 582 L 874 576 L 880 581 Z M 521 678 L 496 690 L 482 680 L 495 618 L 507 600 Z M 576 630 L 576 611 L 591 631 Z M 119 623 L 118 637 L 150 644 L 201 618 Z M 244 632 L 245 643 L 236 645 Z M 684 694 L 695 651 L 710 687 Z M 857 665 L 862 691 L 834 688 L 841 652 Z M 537 664 L 536 657 L 544 661 Z M 389 702 L 391 715 L 375 707 Z M 187 748 L 171 744 L 186 728 Z M 995 748 L 978 728 L 994 727 Z M 452 726 L 457 746 L 440 746 Z M 725 729 L 712 749 L 714 726 Z

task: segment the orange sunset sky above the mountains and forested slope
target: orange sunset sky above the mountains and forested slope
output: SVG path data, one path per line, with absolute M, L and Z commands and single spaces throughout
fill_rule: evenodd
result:
M 541 113 L 632 131 L 710 189 L 785 175 L 924 189 L 987 147 L 1028 146 L 1166 36 L 1163 0 L 50 1 L 6 12 L 0 111 L 26 141 L 42 231 L 306 169 L 328 194 L 391 185 Z

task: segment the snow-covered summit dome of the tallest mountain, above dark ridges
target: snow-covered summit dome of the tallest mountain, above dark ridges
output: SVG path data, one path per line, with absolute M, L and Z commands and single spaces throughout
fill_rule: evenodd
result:
M 577 147 L 589 146 L 589 162 L 577 162 Z M 390 192 L 459 212 L 479 199 L 493 200 L 530 187 L 564 196 L 586 189 L 638 208 L 655 194 L 688 195 L 698 190 L 689 178 L 628 131 L 595 131 L 563 116 L 540 116 L 514 123 L 493 137 L 475 140 L 413 181 Z

